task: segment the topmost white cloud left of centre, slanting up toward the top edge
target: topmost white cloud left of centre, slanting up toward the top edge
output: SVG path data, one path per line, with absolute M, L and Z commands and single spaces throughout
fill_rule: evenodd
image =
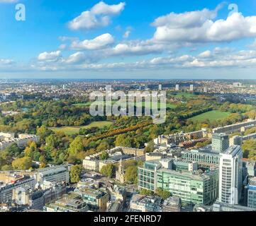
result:
M 91 30 L 106 27 L 111 23 L 111 18 L 120 14 L 126 3 L 108 5 L 103 1 L 93 6 L 89 11 L 82 12 L 77 18 L 69 22 L 71 30 Z

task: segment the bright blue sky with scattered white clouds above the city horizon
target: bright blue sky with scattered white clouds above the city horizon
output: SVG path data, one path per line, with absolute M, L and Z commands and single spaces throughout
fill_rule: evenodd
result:
M 0 0 L 0 79 L 254 79 L 256 0 Z

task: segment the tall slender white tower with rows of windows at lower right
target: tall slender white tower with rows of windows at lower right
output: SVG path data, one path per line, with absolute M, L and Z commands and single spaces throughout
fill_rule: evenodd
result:
M 219 198 L 223 203 L 238 205 L 243 184 L 242 149 L 238 145 L 230 146 L 220 153 Z

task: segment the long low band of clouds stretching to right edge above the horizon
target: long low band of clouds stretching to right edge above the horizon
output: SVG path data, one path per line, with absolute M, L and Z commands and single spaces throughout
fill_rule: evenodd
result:
M 224 48 L 225 49 L 225 48 Z M 256 51 L 239 51 L 239 52 L 226 52 L 226 54 L 215 54 L 215 50 L 208 50 L 203 55 L 211 57 L 200 57 L 184 54 L 182 56 L 171 57 L 155 57 L 150 60 L 135 61 L 135 62 L 113 62 L 106 64 L 92 64 L 86 61 L 87 57 L 82 52 L 77 52 L 70 55 L 67 59 L 60 61 L 43 61 L 43 64 L 34 66 L 40 70 L 160 70 L 160 69 L 194 69 L 194 68 L 256 68 Z M 221 51 L 223 49 L 218 49 Z M 40 63 L 40 62 L 39 62 Z

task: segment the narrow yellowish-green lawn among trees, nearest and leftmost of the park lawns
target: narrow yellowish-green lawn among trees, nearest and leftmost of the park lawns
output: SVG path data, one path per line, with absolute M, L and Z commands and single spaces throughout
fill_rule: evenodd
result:
M 52 131 L 62 131 L 64 133 L 66 133 L 67 135 L 72 135 L 75 133 L 79 133 L 79 129 L 81 128 L 85 128 L 85 129 L 89 129 L 91 127 L 99 127 L 102 128 L 104 126 L 111 126 L 113 124 L 113 122 L 111 121 L 93 121 L 91 122 L 91 124 L 87 125 L 87 126 L 63 126 L 63 127 L 51 127 L 50 129 Z

